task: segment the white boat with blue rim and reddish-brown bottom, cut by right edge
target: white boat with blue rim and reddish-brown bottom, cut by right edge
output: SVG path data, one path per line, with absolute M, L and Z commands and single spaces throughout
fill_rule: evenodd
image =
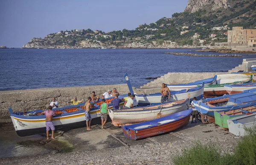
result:
M 248 89 L 255 89 L 256 83 L 224 85 L 224 88 L 228 94 L 238 94 Z

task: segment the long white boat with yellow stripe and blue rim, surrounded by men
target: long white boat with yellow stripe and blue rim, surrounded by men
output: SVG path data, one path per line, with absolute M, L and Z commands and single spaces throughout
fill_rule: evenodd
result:
M 113 98 L 112 98 L 113 99 Z M 112 99 L 108 99 L 110 102 Z M 97 102 L 90 109 L 90 114 L 93 122 L 100 122 L 100 105 L 102 102 Z M 120 103 L 123 105 L 124 102 Z M 112 108 L 112 104 L 109 104 L 109 108 Z M 70 130 L 73 128 L 79 128 L 86 126 L 85 116 L 84 116 L 84 103 L 79 105 L 70 105 L 63 108 L 54 108 L 55 115 L 52 121 L 55 125 L 55 129 L 62 131 Z M 20 137 L 29 136 L 33 134 L 45 133 L 45 115 L 42 115 L 42 110 L 26 111 L 26 112 L 16 112 L 9 108 L 9 113 L 14 125 L 17 135 Z

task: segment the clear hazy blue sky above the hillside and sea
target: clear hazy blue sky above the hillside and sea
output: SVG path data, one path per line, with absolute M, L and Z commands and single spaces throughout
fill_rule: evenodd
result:
M 183 12 L 188 0 L 0 0 L 0 46 L 71 29 L 132 30 Z

